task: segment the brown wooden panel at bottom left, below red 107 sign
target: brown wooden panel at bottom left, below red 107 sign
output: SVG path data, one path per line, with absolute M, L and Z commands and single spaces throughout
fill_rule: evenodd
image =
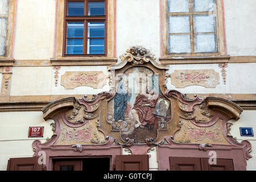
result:
M 42 171 L 38 158 L 10 158 L 7 171 Z

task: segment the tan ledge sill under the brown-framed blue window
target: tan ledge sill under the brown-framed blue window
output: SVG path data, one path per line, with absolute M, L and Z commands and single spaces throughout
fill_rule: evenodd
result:
M 51 58 L 53 66 L 73 66 L 73 65 L 112 65 L 117 63 L 117 58 L 109 57 L 63 57 Z

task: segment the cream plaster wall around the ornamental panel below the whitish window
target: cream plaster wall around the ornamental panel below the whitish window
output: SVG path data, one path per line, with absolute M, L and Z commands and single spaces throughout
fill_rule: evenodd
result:
M 255 67 L 256 63 L 228 63 L 226 70 L 226 84 L 223 82 L 221 76 L 221 68 L 218 64 L 179 64 L 170 65 L 167 73 L 173 73 L 175 69 L 214 69 L 215 72 L 219 73 L 219 83 L 216 88 L 205 88 L 204 86 L 192 85 L 185 88 L 175 88 L 171 84 L 171 79 L 168 78 L 168 89 L 175 89 L 181 93 L 230 93 L 230 94 L 250 94 L 256 93 L 255 84 Z M 230 96 L 231 97 L 231 96 Z

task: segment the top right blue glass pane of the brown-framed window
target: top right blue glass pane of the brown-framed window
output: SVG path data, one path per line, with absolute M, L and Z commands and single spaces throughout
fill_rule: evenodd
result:
M 89 1 L 88 2 L 88 15 L 105 15 L 105 2 L 104 1 Z

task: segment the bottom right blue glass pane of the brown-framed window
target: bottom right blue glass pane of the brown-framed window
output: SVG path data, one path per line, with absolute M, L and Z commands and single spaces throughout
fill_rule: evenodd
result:
M 88 39 L 88 53 L 104 53 L 104 39 Z

